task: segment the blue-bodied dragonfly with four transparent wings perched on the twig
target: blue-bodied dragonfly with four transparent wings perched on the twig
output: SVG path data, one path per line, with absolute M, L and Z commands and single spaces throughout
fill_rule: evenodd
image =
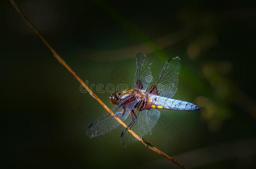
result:
M 109 100 L 115 105 L 111 109 L 114 114 L 106 113 L 92 122 L 87 129 L 87 135 L 90 138 L 107 134 L 117 128 L 120 123 L 114 116 L 122 121 L 125 121 L 130 116 L 130 121 L 121 133 L 121 143 L 127 147 L 137 141 L 128 132 L 128 128 L 140 137 L 145 136 L 157 124 L 160 117 L 158 109 L 201 110 L 201 107 L 196 104 L 172 98 L 178 88 L 180 58 L 169 58 L 160 71 L 157 80 L 149 86 L 153 79 L 150 65 L 146 55 L 143 53 L 136 54 L 134 87 L 110 94 Z

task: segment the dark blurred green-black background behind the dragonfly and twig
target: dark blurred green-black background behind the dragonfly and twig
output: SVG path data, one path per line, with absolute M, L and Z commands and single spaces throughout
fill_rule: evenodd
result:
M 154 146 L 184 165 L 256 167 L 256 6 L 245 1 L 17 0 L 53 48 L 89 85 L 133 84 L 135 55 L 156 78 L 167 58 L 182 61 L 174 98 L 202 111 L 161 111 Z M 8 1 L 1 3 L 2 165 L 178 168 L 140 142 L 120 144 L 123 128 L 89 139 L 105 113 L 52 56 Z M 107 106 L 109 93 L 92 90 Z

